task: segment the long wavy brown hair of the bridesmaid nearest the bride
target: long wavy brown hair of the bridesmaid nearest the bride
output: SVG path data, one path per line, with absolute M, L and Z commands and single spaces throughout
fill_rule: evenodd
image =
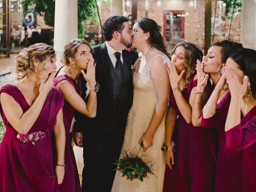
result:
M 185 49 L 184 65 L 186 66 L 186 86 L 188 86 L 196 66 L 196 60 L 199 59 L 202 61 L 203 52 L 198 45 L 192 42 L 184 41 L 176 44 L 172 50 L 172 55 L 174 54 L 176 48 L 179 46 L 182 46 Z

